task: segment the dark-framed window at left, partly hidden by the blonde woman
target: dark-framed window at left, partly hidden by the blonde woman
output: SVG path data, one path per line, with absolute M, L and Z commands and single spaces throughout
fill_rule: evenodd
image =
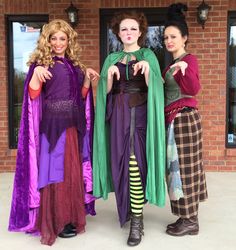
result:
M 36 47 L 47 15 L 7 16 L 9 147 L 16 148 L 21 116 L 26 62 Z

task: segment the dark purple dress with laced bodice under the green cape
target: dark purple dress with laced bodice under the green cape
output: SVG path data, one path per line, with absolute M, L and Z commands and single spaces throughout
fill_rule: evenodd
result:
M 133 139 L 143 190 L 146 186 L 146 128 L 147 128 L 147 86 L 140 71 L 133 76 L 132 64 L 117 63 L 120 80 L 114 80 L 107 100 L 107 119 L 110 121 L 111 168 L 120 225 L 130 216 L 129 158 Z M 131 110 L 135 110 L 134 133 L 130 133 Z M 133 137 L 133 138 L 132 138 Z

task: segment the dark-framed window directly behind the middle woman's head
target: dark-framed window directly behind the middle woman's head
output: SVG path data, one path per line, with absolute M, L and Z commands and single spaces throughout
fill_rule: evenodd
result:
M 109 29 L 109 22 L 117 11 L 130 9 L 101 9 L 100 10 L 100 64 L 106 56 L 114 51 L 121 49 L 121 44 L 116 36 Z M 163 28 L 166 20 L 167 8 L 142 8 L 140 9 L 147 17 L 148 33 L 145 47 L 148 47 L 156 54 L 161 70 L 170 62 L 171 56 L 163 46 Z

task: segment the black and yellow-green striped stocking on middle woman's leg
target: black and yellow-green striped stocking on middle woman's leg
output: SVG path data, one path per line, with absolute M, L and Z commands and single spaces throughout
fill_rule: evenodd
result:
M 129 183 L 131 212 L 135 216 L 141 216 L 144 206 L 144 192 L 138 163 L 134 154 L 130 156 L 129 160 Z

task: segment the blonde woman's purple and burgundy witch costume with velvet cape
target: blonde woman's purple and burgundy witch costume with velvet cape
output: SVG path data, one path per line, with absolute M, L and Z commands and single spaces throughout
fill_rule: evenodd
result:
M 52 245 L 67 224 L 85 230 L 95 215 L 92 193 L 93 96 L 81 95 L 84 73 L 67 58 L 54 58 L 52 78 L 38 97 L 24 86 L 10 231 L 40 233 Z

